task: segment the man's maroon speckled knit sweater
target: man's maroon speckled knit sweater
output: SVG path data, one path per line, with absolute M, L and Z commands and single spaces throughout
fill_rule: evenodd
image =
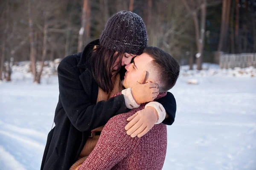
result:
M 160 93 L 157 99 L 163 96 L 166 93 Z M 78 170 L 161 170 L 167 148 L 166 125 L 154 125 L 141 138 L 131 138 L 125 130 L 126 119 L 143 110 L 146 104 L 111 118 L 96 147 Z

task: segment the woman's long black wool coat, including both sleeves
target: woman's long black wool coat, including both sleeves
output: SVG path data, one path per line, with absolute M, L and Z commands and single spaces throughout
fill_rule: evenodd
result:
M 86 64 L 87 54 L 99 45 L 99 40 L 90 42 L 82 53 L 65 57 L 58 66 L 59 100 L 55 110 L 55 127 L 49 132 L 44 150 L 41 170 L 68 170 L 81 153 L 90 130 L 105 125 L 111 117 L 130 111 L 125 106 L 123 95 L 96 103 L 98 88 Z M 123 77 L 122 68 L 120 76 Z M 158 99 L 169 118 L 166 125 L 175 119 L 176 102 L 168 94 Z

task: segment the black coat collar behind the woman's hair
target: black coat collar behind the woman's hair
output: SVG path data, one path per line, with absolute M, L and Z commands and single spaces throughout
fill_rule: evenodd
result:
M 94 45 L 99 45 L 99 39 L 93 40 L 92 42 L 90 42 L 84 47 L 84 50 L 81 54 L 80 61 L 77 65 L 79 68 L 87 68 L 87 56 L 90 55 L 91 52 L 93 51 Z

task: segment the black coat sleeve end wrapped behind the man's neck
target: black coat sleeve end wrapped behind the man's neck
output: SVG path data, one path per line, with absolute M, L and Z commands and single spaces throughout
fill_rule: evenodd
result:
M 176 100 L 172 93 L 167 92 L 166 96 L 157 99 L 156 102 L 159 102 L 166 110 L 168 117 L 163 120 L 163 124 L 172 125 L 175 119 L 176 113 Z

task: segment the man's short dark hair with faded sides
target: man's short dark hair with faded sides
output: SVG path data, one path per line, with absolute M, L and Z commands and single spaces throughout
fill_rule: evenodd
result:
M 148 46 L 143 52 L 154 59 L 150 62 L 150 69 L 157 74 L 157 79 L 160 82 L 158 85 L 159 91 L 169 91 L 179 77 L 179 63 L 170 54 L 157 47 Z

